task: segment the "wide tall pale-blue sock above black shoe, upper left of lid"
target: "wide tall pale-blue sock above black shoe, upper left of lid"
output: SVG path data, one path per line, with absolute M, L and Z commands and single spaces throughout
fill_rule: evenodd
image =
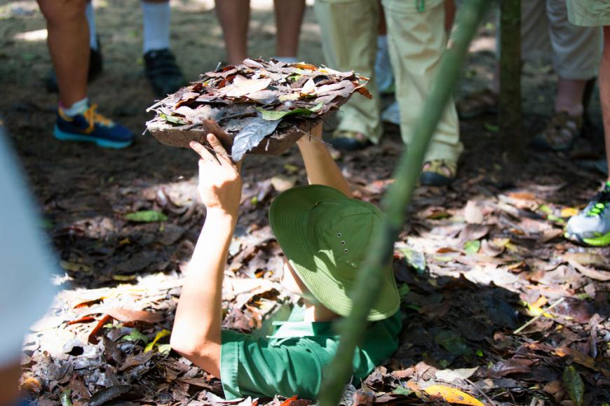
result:
M 170 2 L 142 3 L 144 53 L 170 48 Z

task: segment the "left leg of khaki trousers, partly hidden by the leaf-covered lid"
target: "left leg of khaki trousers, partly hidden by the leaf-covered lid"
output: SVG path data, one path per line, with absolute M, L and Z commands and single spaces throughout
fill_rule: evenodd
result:
M 339 111 L 339 130 L 366 134 L 377 143 L 381 137 L 381 105 L 374 78 L 377 52 L 375 0 L 316 0 L 314 9 L 322 30 L 326 64 L 339 71 L 355 71 L 371 78 L 367 89 L 373 99 L 354 94 Z

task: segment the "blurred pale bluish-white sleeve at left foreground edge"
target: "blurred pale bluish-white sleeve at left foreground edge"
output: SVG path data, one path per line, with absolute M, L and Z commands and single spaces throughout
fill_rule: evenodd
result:
M 48 308 L 57 264 L 20 169 L 0 121 L 0 368 L 20 359 L 27 328 Z

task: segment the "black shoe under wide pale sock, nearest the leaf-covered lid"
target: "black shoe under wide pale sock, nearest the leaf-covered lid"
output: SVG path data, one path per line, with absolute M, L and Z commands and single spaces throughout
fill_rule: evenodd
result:
M 167 48 L 146 52 L 144 65 L 146 76 L 157 97 L 165 97 L 187 84 L 174 54 Z

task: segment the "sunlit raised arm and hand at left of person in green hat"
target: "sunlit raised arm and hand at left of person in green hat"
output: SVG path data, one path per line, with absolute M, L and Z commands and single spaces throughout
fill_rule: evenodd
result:
M 242 180 L 235 165 L 212 134 L 216 156 L 191 142 L 199 160 L 199 194 L 207 209 L 205 223 L 176 309 L 171 345 L 192 363 L 220 377 L 222 279 L 226 255 L 238 218 Z

